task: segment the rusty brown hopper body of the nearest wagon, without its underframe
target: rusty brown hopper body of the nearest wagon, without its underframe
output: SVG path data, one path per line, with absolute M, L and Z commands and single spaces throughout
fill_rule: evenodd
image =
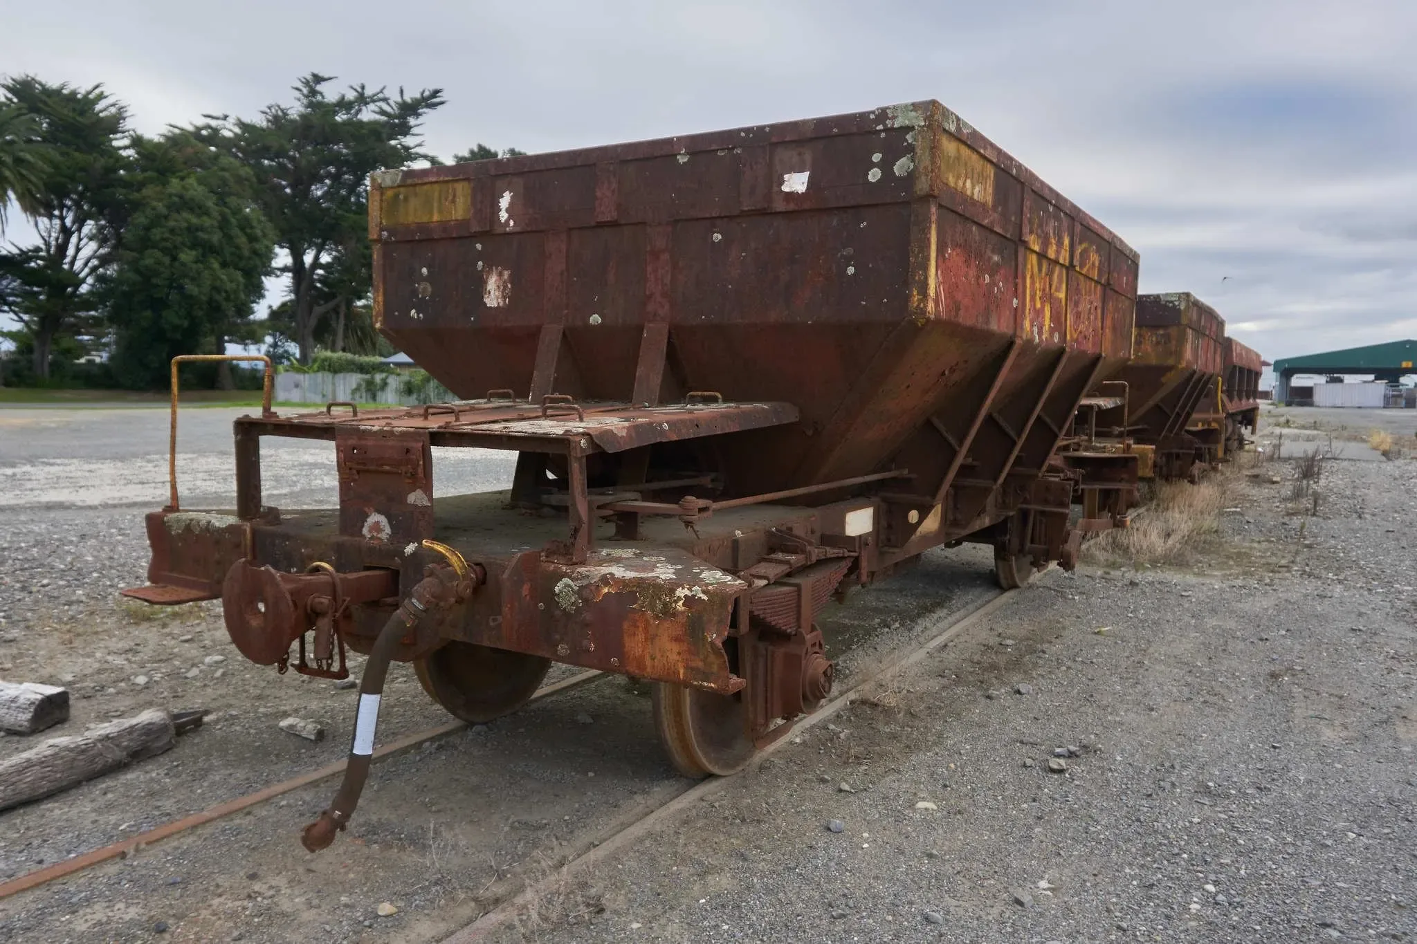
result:
M 1131 348 L 1135 252 L 938 102 L 377 174 L 371 202 L 383 330 L 459 396 L 798 405 L 726 444 L 730 493 L 880 467 L 1010 337 Z

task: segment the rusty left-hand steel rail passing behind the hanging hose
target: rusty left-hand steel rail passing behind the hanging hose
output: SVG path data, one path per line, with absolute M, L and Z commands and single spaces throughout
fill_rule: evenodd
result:
M 540 701 L 543 698 L 548 698 L 551 695 L 560 695 L 561 692 L 578 688 L 585 682 L 595 681 L 597 678 L 602 678 L 604 675 L 605 675 L 604 672 L 598 672 L 594 669 L 588 672 L 580 672 L 578 675 L 572 675 L 571 678 L 564 678 L 560 682 L 553 682 L 550 685 L 538 688 L 531 695 L 531 698 L 527 699 L 526 703 L 530 705 L 531 702 Z M 446 725 L 439 725 L 438 727 L 429 727 L 421 732 L 415 732 L 412 735 L 405 735 L 402 737 L 398 737 L 397 740 L 388 742 L 383 747 L 376 749 L 371 759 L 381 760 L 391 754 L 402 753 L 410 747 L 417 747 L 425 740 L 444 737 L 446 735 L 452 735 L 458 730 L 462 730 L 463 727 L 468 727 L 466 722 L 449 722 Z M 194 812 L 188 817 L 183 817 L 181 819 L 173 819 L 171 822 L 163 824 L 160 827 L 146 829 L 143 832 L 139 832 L 136 836 L 123 839 L 122 842 L 115 842 L 112 845 L 94 849 L 92 852 L 85 852 L 84 855 L 74 856 L 72 859 L 65 859 L 64 862 L 55 862 L 54 865 L 47 866 L 44 869 L 35 869 L 34 872 L 28 872 L 26 875 L 21 875 L 20 877 L 10 879 L 9 882 L 0 885 L 0 900 L 7 899 L 11 894 L 18 894 L 20 892 L 27 892 L 30 889 L 38 887 L 48 882 L 54 882 L 55 879 L 62 879 L 64 876 L 74 875 L 75 872 L 91 869 L 95 865 L 108 862 L 109 859 L 126 859 L 133 852 L 137 852 L 143 846 L 152 845 L 153 842 L 157 842 L 160 839 L 167 839 L 180 832 L 187 832 L 188 829 L 205 825 L 208 822 L 213 822 L 214 819 L 221 819 L 222 817 L 230 817 L 234 812 L 241 812 L 242 810 L 254 807 L 259 802 L 265 802 L 266 800 L 273 800 L 281 794 L 290 793 L 292 790 L 299 790 L 300 787 L 309 787 L 310 784 L 319 783 L 320 780 L 324 780 L 327 777 L 334 777 L 337 774 L 341 774 L 344 773 L 346 766 L 349 766 L 349 759 L 339 760 L 334 761 L 333 764 L 326 764 L 323 767 L 317 767 L 315 770 L 281 781 L 271 787 L 265 787 L 255 793 L 249 793 L 244 797 L 237 797 L 235 800 L 220 802 L 215 807 L 208 807 L 201 812 Z

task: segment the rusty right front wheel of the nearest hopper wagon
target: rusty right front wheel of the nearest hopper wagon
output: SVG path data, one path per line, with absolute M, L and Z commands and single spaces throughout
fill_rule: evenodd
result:
M 686 777 L 738 773 L 757 750 L 745 733 L 747 706 L 737 695 L 655 682 L 655 726 Z

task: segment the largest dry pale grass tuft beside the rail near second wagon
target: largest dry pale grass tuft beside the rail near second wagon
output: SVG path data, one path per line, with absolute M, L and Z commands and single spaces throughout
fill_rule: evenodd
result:
M 1207 476 L 1200 484 L 1156 483 L 1146 511 L 1122 531 L 1105 531 L 1084 545 L 1095 563 L 1176 563 L 1220 532 L 1220 512 L 1233 488 L 1227 473 Z

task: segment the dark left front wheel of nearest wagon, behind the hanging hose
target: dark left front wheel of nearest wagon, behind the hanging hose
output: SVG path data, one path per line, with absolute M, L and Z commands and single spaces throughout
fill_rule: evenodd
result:
M 453 718 L 480 725 L 506 715 L 536 692 L 551 660 L 490 645 L 452 641 L 414 660 L 418 682 Z

